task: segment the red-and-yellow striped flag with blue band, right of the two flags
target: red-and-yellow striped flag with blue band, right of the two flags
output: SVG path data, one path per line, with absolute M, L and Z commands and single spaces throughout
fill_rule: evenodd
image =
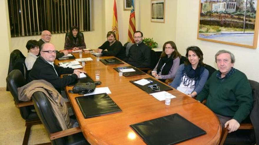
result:
M 133 39 L 134 32 L 136 32 L 136 21 L 135 21 L 134 0 L 132 0 L 131 12 L 129 15 L 128 42 L 135 43 Z

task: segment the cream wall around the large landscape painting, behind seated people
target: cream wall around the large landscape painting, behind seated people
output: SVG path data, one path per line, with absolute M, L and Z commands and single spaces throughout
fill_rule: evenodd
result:
M 217 68 L 214 55 L 218 50 L 228 50 L 235 55 L 234 67 L 244 72 L 248 79 L 259 81 L 259 50 L 233 45 L 225 45 L 215 42 L 197 40 L 199 1 L 178 0 L 176 42 L 180 53 L 185 54 L 185 49 L 190 45 L 201 48 L 204 62 Z

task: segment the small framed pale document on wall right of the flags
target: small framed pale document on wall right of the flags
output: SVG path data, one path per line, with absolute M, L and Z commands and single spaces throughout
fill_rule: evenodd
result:
M 151 22 L 165 23 L 165 0 L 151 0 Z

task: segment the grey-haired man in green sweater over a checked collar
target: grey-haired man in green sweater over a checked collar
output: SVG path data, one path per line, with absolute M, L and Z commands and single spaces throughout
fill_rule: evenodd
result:
M 222 128 L 229 133 L 236 131 L 249 115 L 252 105 L 252 89 L 245 74 L 235 68 L 234 55 L 227 50 L 215 54 L 218 71 L 205 83 L 197 100 L 207 99 L 206 106 L 219 118 Z

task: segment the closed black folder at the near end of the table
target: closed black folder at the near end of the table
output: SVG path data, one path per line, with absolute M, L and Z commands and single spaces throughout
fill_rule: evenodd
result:
M 132 124 L 130 127 L 148 145 L 176 144 L 206 134 L 200 127 L 177 113 Z

